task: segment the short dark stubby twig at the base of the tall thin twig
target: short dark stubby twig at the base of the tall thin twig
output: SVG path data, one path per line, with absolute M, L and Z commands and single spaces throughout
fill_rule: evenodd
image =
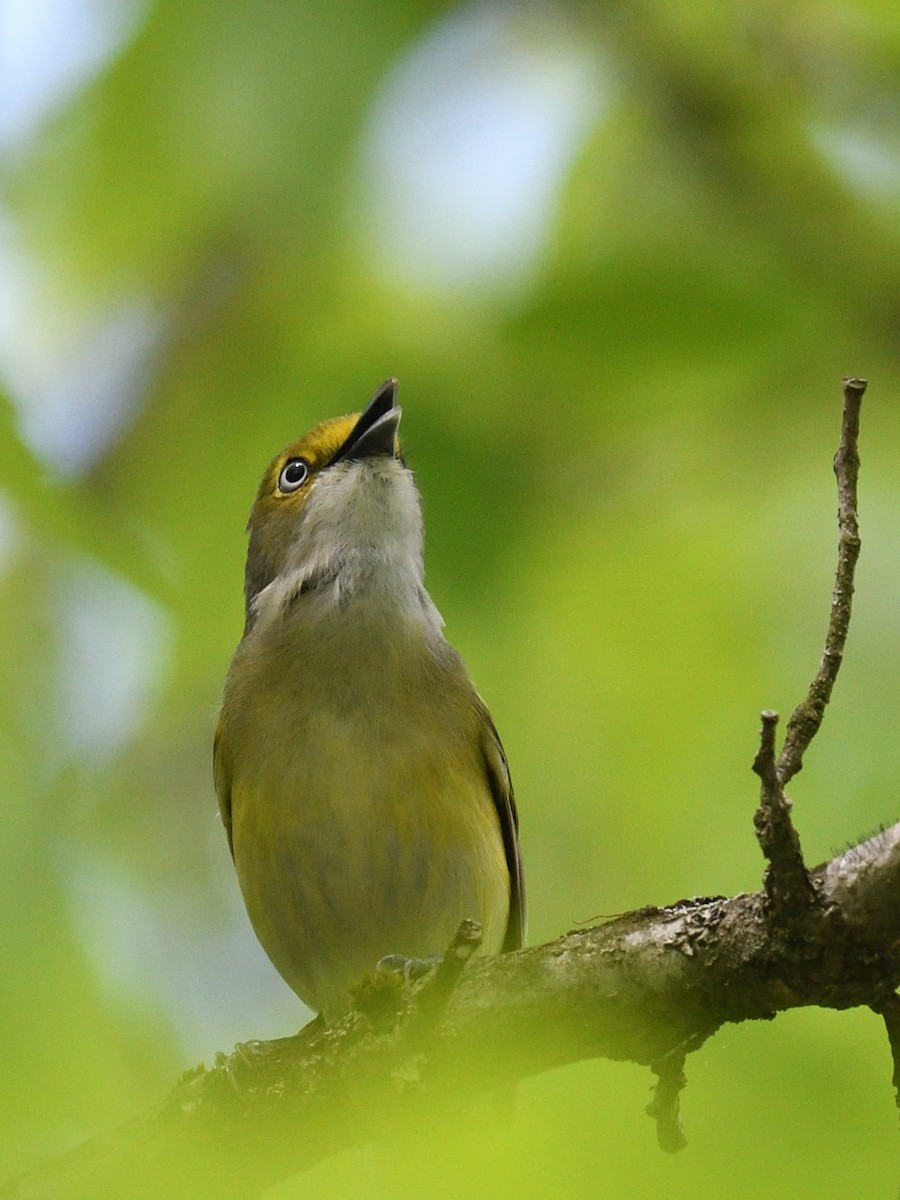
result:
M 816 894 L 803 862 L 800 839 L 791 821 L 791 802 L 785 796 L 775 761 L 778 713 L 761 714 L 760 749 L 754 770 L 760 776 L 760 808 L 754 815 L 756 838 L 768 859 L 766 892 L 780 920 L 805 912 Z

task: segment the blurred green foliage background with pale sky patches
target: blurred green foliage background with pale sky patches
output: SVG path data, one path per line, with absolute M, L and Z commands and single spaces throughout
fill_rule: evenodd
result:
M 390 374 L 533 942 L 758 887 L 757 716 L 818 661 L 850 373 L 857 612 L 792 794 L 812 862 L 898 817 L 899 82 L 878 0 L 4 0 L 2 1174 L 304 1019 L 210 745 L 258 476 Z M 894 1195 L 871 1014 L 688 1070 L 676 1158 L 649 1073 L 583 1063 L 502 1136 L 442 1129 L 409 1194 Z M 373 1187 L 349 1153 L 277 1195 Z

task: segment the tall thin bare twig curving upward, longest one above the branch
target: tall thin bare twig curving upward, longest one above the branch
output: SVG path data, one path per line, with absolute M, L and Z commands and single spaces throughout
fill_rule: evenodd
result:
M 803 768 L 803 756 L 818 732 L 826 706 L 838 678 L 844 646 L 850 628 L 853 600 L 853 572 L 859 558 L 859 523 L 857 518 L 857 479 L 859 476 L 859 409 L 865 392 L 865 379 L 844 380 L 844 420 L 841 440 L 834 456 L 838 476 L 838 569 L 832 595 L 824 653 L 816 677 L 803 701 L 791 714 L 785 744 L 778 757 L 778 773 L 785 785 Z

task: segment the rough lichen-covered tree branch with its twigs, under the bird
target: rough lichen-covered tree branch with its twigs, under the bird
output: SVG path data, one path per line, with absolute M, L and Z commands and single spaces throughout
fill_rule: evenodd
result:
M 726 1022 L 802 1006 L 883 1015 L 900 1106 L 900 823 L 808 871 L 784 786 L 800 769 L 840 667 L 859 553 L 857 454 L 865 383 L 845 380 L 835 458 L 840 542 L 818 672 L 775 754 L 762 714 L 754 770 L 769 862 L 746 895 L 647 907 L 546 946 L 474 960 L 461 928 L 442 965 L 403 984 L 384 972 L 358 1010 L 294 1038 L 239 1046 L 186 1073 L 158 1108 L 0 1189 L 10 1200 L 198 1194 L 246 1200 L 322 1158 L 462 1099 L 583 1058 L 630 1060 L 656 1075 L 659 1144 L 684 1144 L 685 1056 Z

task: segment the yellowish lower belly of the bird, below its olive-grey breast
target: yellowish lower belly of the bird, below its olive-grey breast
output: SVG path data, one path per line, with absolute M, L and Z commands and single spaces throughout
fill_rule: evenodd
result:
M 272 773 L 270 745 L 266 786 L 232 791 L 247 912 L 287 983 L 334 1020 L 378 959 L 439 954 L 463 918 L 498 952 L 509 871 L 476 756 L 439 751 L 427 731 L 370 752 L 359 730 L 310 732 L 314 751 L 282 742 Z

